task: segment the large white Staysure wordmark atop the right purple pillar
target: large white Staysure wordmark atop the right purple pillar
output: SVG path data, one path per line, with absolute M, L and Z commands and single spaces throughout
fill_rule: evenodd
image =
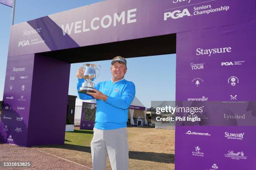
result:
M 211 49 L 197 48 L 196 55 L 208 55 L 210 57 L 212 54 L 227 53 L 231 51 L 232 51 L 231 47 L 221 47 L 221 48 L 211 48 Z

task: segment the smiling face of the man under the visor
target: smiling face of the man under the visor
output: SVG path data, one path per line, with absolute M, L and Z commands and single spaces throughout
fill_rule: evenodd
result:
M 127 68 L 126 68 L 125 64 L 123 64 L 122 62 L 115 62 L 111 66 L 110 70 L 111 70 L 111 74 L 113 76 L 113 80 L 118 81 L 124 77 L 124 75 L 127 71 Z

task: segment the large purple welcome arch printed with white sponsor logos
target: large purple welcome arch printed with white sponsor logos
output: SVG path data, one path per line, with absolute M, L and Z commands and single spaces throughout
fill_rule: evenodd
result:
M 0 141 L 64 144 L 70 63 L 115 55 L 177 53 L 176 100 L 255 100 L 255 16 L 255 0 L 107 0 L 13 25 Z M 255 130 L 177 126 L 175 168 L 256 169 Z M 227 140 L 225 132 L 246 136 Z M 191 154 L 199 145 L 203 157 Z M 243 151 L 246 159 L 225 157 L 229 150 Z

